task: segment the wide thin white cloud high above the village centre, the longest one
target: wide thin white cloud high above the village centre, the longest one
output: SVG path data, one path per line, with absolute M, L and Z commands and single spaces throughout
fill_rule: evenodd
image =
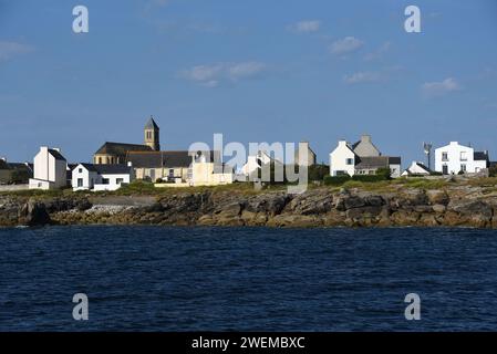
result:
M 194 66 L 184 71 L 182 76 L 207 87 L 216 87 L 222 81 L 255 77 L 266 70 L 267 65 L 259 62 L 219 63 Z

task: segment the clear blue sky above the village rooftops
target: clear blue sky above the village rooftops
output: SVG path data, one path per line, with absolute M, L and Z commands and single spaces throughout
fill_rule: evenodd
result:
M 72 31 L 72 9 L 90 32 Z M 422 33 L 404 31 L 404 9 Z M 497 1 L 0 0 L 0 156 L 90 160 L 106 140 L 373 135 L 403 165 L 449 140 L 497 159 Z

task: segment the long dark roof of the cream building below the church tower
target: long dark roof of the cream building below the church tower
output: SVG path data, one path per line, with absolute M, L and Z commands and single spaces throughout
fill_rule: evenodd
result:
M 189 167 L 191 155 L 188 150 L 128 152 L 126 162 L 137 168 Z

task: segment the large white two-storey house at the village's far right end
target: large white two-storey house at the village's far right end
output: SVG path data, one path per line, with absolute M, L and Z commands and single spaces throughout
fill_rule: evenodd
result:
M 476 174 L 488 168 L 488 152 L 475 152 L 473 147 L 451 142 L 435 149 L 435 170 L 444 175 L 459 171 Z

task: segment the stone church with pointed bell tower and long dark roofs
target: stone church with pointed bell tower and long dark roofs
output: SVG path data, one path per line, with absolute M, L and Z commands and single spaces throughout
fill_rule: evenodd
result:
M 133 166 L 137 179 L 178 183 L 188 179 L 193 157 L 188 150 L 161 150 L 161 128 L 151 116 L 144 127 L 144 144 L 106 142 L 93 155 L 95 165 Z

